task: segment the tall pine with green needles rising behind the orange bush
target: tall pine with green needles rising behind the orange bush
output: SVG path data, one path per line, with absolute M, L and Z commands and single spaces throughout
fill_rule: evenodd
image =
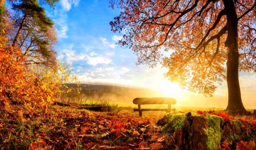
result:
M 38 0 L 23 0 L 13 3 L 14 31 L 10 32 L 12 46 L 18 46 L 27 55 L 27 64 L 54 65 L 57 38 L 53 22 Z

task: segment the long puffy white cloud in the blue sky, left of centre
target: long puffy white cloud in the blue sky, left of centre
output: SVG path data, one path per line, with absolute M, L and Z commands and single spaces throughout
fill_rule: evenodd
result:
M 71 62 L 71 63 L 73 61 L 86 61 L 88 65 L 96 66 L 98 64 L 102 64 L 102 63 L 108 64 L 112 62 L 112 59 L 104 58 L 100 54 L 93 54 L 93 55 L 87 55 L 84 53 L 76 54 L 75 50 L 68 50 L 68 49 L 64 49 L 63 54 L 61 55 L 64 55 L 63 58 L 65 58 L 67 62 Z M 94 55 L 97 55 L 97 56 L 93 57 Z

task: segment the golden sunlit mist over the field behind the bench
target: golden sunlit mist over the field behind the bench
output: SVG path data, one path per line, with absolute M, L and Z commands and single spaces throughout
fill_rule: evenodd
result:
M 72 85 L 70 84 L 69 86 L 72 86 Z M 73 86 L 75 86 L 75 84 Z M 81 87 L 84 87 L 82 93 L 88 93 L 88 91 L 90 91 L 90 96 L 86 100 L 87 102 L 108 101 L 108 102 L 114 102 L 115 104 L 118 104 L 118 106 L 122 106 L 122 107 L 137 108 L 137 105 L 133 104 L 134 98 L 137 98 L 137 97 L 176 98 L 177 103 L 175 105 L 172 105 L 172 107 L 176 108 L 177 110 L 193 110 L 193 108 L 224 109 L 228 104 L 228 96 L 222 96 L 217 94 L 214 94 L 213 97 L 205 97 L 204 95 L 199 95 L 197 93 L 186 91 L 184 93 L 166 95 L 166 93 L 163 93 L 161 91 L 157 91 L 154 89 L 140 88 L 140 87 L 125 87 L 125 85 L 122 86 L 122 85 L 82 84 Z M 243 96 L 243 99 L 246 99 L 245 100 L 246 109 L 255 109 L 256 102 L 253 100 L 255 94 L 248 92 L 248 93 L 244 93 L 242 96 Z M 150 107 L 150 106 L 143 106 L 143 107 Z M 153 106 L 153 107 L 161 107 L 161 106 Z

